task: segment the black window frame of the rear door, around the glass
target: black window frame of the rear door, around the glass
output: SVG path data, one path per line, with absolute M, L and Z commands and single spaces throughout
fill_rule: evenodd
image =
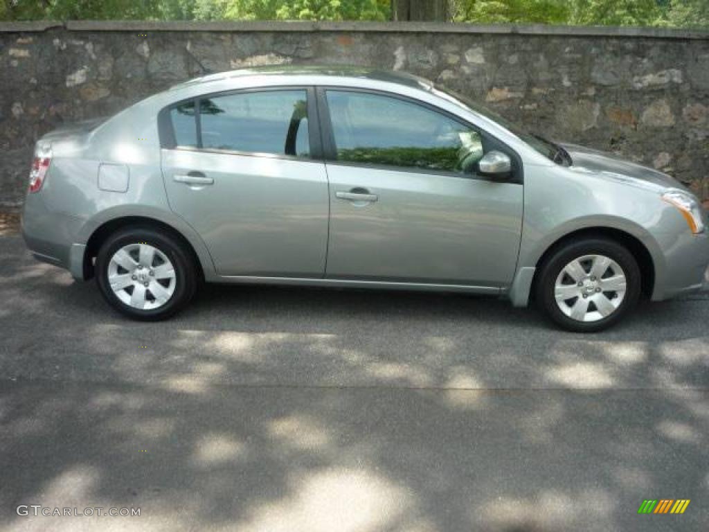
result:
M 286 155 L 281 153 L 264 153 L 264 152 L 249 152 L 241 150 L 223 150 L 220 148 L 204 148 L 202 145 L 201 117 L 200 117 L 200 101 L 203 99 L 216 98 L 221 96 L 231 96 L 233 94 L 250 94 L 252 92 L 277 92 L 277 91 L 305 91 L 306 106 L 308 108 L 308 143 L 310 155 Z M 196 128 L 196 146 L 180 146 L 177 145 L 177 140 L 174 135 L 172 126 L 172 118 L 170 112 L 182 104 L 194 102 L 194 117 Z M 323 143 L 320 133 L 320 120 L 318 118 L 318 109 L 316 104 L 316 89 L 311 85 L 273 85 L 266 87 L 248 87 L 245 89 L 227 89 L 218 92 L 207 92 L 199 94 L 199 96 L 191 96 L 178 101 L 172 102 L 160 109 L 157 113 L 158 135 L 160 136 L 160 148 L 164 150 L 180 150 L 189 152 L 215 153 L 224 155 L 245 155 L 249 157 L 266 157 L 269 159 L 285 159 L 296 161 L 321 161 L 323 160 Z

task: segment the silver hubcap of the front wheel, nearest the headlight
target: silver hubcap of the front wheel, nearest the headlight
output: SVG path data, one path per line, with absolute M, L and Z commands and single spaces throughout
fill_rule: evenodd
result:
M 559 309 L 576 321 L 598 321 L 615 312 L 625 297 L 625 272 L 603 255 L 584 255 L 567 264 L 554 284 Z

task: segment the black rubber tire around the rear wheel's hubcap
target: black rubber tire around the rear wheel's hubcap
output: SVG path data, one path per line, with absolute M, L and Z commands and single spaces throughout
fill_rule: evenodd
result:
M 139 243 L 147 243 L 160 250 L 172 262 L 174 268 L 174 292 L 166 303 L 156 309 L 136 309 L 125 304 L 116 296 L 108 282 L 108 265 L 113 254 L 125 245 Z M 189 250 L 174 236 L 149 226 L 125 227 L 108 236 L 96 255 L 95 272 L 96 282 L 104 299 L 121 314 L 140 321 L 163 320 L 182 310 L 194 296 L 198 282 Z

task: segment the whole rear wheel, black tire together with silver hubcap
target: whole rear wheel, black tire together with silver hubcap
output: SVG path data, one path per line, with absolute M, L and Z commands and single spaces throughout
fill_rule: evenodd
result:
M 108 303 L 130 318 L 172 316 L 193 297 L 196 271 L 190 254 L 172 235 L 154 228 L 123 228 L 96 256 L 96 281 Z

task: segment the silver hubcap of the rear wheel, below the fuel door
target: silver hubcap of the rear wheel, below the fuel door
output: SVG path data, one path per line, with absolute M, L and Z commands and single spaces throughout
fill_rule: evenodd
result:
M 118 299 L 134 309 L 158 309 L 175 291 L 172 262 L 148 244 L 128 244 L 108 262 L 108 282 Z

